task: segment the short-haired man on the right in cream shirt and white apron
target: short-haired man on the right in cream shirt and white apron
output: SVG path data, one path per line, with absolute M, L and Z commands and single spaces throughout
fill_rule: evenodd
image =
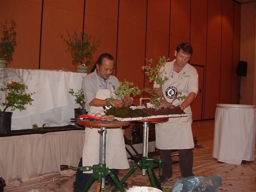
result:
M 180 172 L 182 177 L 193 176 L 193 150 L 194 140 L 192 135 L 192 112 L 190 104 L 194 101 L 198 92 L 198 73 L 196 69 L 188 64 L 192 56 L 193 49 L 187 42 L 178 44 L 174 55 L 176 59 L 167 62 L 163 68 L 168 76 L 164 83 L 164 99 L 168 102 L 182 92 L 182 96 L 187 96 L 185 100 L 175 100 L 174 105 L 179 106 L 187 117 L 169 118 L 168 122 L 156 124 L 156 148 L 160 149 L 160 158 L 164 159 L 162 164 L 162 183 L 172 178 L 172 150 L 179 150 Z M 159 85 L 154 84 L 154 90 L 159 91 Z

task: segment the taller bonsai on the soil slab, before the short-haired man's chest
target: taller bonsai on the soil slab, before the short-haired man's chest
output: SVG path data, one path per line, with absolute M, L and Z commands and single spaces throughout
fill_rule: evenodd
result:
M 147 60 L 147 59 L 146 59 Z M 159 92 L 153 92 L 149 88 L 144 88 L 144 91 L 148 92 L 152 99 L 150 102 L 155 105 L 160 105 L 163 102 L 163 92 L 162 92 L 162 87 L 164 85 L 164 82 L 168 80 L 168 77 L 165 76 L 166 72 L 162 67 L 166 64 L 166 61 L 169 61 L 169 59 L 165 58 L 163 56 L 162 58 L 160 57 L 158 60 L 158 63 L 156 64 L 156 67 L 153 67 L 153 59 L 147 60 L 149 63 L 146 66 L 142 66 L 142 69 L 145 70 L 145 74 L 149 78 L 149 82 L 156 82 L 159 84 Z

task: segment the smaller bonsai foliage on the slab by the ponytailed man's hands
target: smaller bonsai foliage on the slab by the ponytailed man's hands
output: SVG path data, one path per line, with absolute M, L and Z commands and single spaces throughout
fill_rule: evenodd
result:
M 124 103 L 124 106 L 128 107 L 130 105 L 130 95 L 133 96 L 140 94 L 140 89 L 138 86 L 133 86 L 133 82 L 128 82 L 124 80 L 124 82 L 119 82 L 119 87 L 115 91 L 115 93 L 120 96 L 122 102 Z

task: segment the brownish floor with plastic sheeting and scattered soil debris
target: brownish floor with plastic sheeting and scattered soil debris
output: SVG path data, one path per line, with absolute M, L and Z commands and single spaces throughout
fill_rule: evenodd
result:
M 217 192 L 256 192 L 256 160 L 243 162 L 240 166 L 218 162 L 212 157 L 214 121 L 195 122 L 193 125 L 193 134 L 196 133 L 198 144 L 206 146 L 205 148 L 194 148 L 194 174 L 197 176 L 220 175 L 222 177 L 222 185 L 217 189 Z M 202 126 L 204 127 L 204 133 L 197 132 L 196 130 L 202 130 L 200 129 Z M 209 133 L 211 133 L 210 137 L 205 136 L 209 135 Z M 178 158 L 178 156 L 174 158 Z M 134 162 L 130 161 L 130 167 L 133 165 Z M 127 172 L 128 170 L 121 170 L 120 178 Z M 158 169 L 155 169 L 155 172 L 158 176 Z M 173 180 L 162 185 L 164 192 L 171 191 L 178 177 L 180 177 L 179 165 L 174 164 Z M 58 180 L 54 181 L 53 178 L 58 178 Z M 6 186 L 4 192 L 33 192 L 33 190 L 38 190 L 39 192 L 72 192 L 74 180 L 75 176 L 51 175 L 40 180 L 20 183 L 19 186 Z M 128 183 L 128 188 L 132 186 L 150 186 L 148 176 L 142 176 L 140 168 L 126 182 Z M 110 190 L 111 188 L 105 188 L 106 192 Z M 89 191 L 96 191 L 96 182 L 92 184 Z

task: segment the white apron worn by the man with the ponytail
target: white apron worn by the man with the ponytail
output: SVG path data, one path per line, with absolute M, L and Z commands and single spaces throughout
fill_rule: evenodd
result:
M 111 82 L 110 82 L 110 88 Z M 114 92 L 113 88 L 101 90 L 99 89 L 96 98 L 106 99 L 114 96 L 111 92 Z M 103 110 L 103 107 L 91 106 L 88 114 L 98 113 Z M 85 140 L 83 149 L 83 166 L 92 166 L 100 163 L 100 134 L 98 133 L 100 128 L 85 128 Z M 126 154 L 124 136 L 121 128 L 107 128 L 106 133 L 106 167 L 110 169 L 128 169 L 129 163 Z M 92 171 L 86 171 L 84 173 L 92 173 Z

